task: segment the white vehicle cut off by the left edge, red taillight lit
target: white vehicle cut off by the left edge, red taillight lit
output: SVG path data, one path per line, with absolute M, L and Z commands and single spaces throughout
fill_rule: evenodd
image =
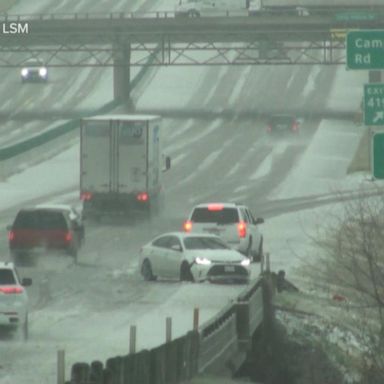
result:
M 29 278 L 20 279 L 13 263 L 0 262 L 0 325 L 22 331 L 28 338 Z

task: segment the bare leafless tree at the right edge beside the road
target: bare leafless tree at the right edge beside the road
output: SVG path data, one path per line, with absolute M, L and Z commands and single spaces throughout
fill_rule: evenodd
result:
M 321 250 L 316 277 L 353 303 L 367 351 L 364 368 L 374 372 L 369 382 L 384 382 L 384 197 L 344 199 L 329 221 L 311 236 Z

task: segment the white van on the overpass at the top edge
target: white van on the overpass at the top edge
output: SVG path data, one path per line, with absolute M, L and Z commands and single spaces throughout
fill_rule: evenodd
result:
M 175 16 L 248 16 L 261 9 L 260 0 L 179 0 Z

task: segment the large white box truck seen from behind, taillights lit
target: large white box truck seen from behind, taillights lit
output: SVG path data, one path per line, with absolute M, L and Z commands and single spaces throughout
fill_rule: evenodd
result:
M 162 172 L 170 158 L 161 152 L 161 118 L 103 115 L 80 127 L 80 198 L 83 215 L 154 213 L 162 199 Z

